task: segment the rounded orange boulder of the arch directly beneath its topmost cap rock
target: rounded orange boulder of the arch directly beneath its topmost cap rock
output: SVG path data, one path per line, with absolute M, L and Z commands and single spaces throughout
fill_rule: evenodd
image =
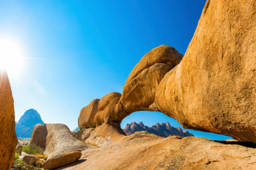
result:
M 168 64 L 156 63 L 126 83 L 120 99 L 123 109 L 128 113 L 150 110 L 159 83 L 171 69 Z

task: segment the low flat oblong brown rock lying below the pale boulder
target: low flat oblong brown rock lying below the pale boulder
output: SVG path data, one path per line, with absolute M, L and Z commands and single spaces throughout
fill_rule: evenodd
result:
M 44 169 L 53 169 L 56 167 L 64 166 L 80 159 L 82 153 L 79 151 L 64 152 L 52 156 L 43 163 Z

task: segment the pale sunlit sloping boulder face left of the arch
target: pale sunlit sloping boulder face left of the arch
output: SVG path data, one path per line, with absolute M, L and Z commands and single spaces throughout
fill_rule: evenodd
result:
M 84 151 L 92 148 L 91 145 L 77 140 L 64 124 L 46 124 L 47 137 L 45 151 L 49 158 L 64 152 Z

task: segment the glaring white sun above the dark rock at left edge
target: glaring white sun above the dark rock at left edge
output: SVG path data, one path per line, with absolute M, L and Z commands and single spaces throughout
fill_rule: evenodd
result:
M 7 70 L 9 78 L 22 70 L 20 47 L 15 42 L 0 39 L 0 69 Z

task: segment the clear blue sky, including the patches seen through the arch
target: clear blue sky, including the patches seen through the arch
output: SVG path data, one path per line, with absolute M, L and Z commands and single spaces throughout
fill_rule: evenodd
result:
M 109 92 L 121 93 L 152 48 L 166 44 L 184 55 L 205 2 L 0 0 L 0 38 L 15 41 L 25 57 L 18 78 L 9 76 L 15 120 L 34 108 L 45 123 L 76 128 L 81 108 Z M 180 126 L 162 113 L 143 111 L 127 116 L 121 127 L 141 121 Z

